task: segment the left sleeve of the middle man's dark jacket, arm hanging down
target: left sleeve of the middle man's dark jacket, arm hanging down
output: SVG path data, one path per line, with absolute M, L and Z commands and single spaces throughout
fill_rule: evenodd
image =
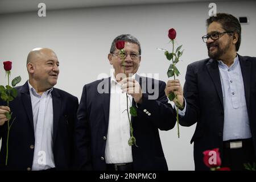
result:
M 92 170 L 90 154 L 90 128 L 87 117 L 86 85 L 82 90 L 82 96 L 77 110 L 77 122 L 75 124 L 75 168 L 79 170 Z

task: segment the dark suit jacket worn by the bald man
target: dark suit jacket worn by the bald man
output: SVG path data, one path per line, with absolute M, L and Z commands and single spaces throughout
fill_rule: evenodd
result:
M 35 145 L 34 121 L 28 83 L 18 86 L 18 97 L 10 102 L 16 118 L 10 129 L 9 157 L 5 167 L 7 122 L 0 127 L 2 148 L 0 165 L 7 170 L 27 170 L 32 168 Z M 53 88 L 53 155 L 57 170 L 69 169 L 73 162 L 73 129 L 76 120 L 78 100 L 63 90 Z M 0 100 L 0 105 L 6 105 Z

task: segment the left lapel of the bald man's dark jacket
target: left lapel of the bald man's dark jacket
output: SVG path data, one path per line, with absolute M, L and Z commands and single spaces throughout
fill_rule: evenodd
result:
M 28 82 L 27 81 L 22 86 L 22 88 L 20 89 L 20 94 L 21 94 L 23 106 L 26 110 L 31 128 L 32 128 L 33 133 L 34 133 L 34 119 L 33 119 L 33 113 L 32 113 L 32 104 L 31 104 L 31 98 L 30 98 L 30 90 L 28 88 Z

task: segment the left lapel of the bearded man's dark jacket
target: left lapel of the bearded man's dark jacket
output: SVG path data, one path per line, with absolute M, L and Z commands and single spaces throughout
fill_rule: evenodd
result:
M 207 69 L 208 69 L 210 77 L 212 77 L 212 81 L 217 90 L 218 97 L 220 98 L 220 102 L 222 105 L 222 109 L 224 109 L 221 80 L 220 80 L 220 71 L 218 69 L 217 61 L 210 59 L 207 63 Z

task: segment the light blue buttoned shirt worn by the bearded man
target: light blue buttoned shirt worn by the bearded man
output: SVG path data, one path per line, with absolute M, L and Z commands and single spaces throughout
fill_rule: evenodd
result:
M 230 67 L 222 61 L 218 61 L 218 68 L 224 101 L 223 140 L 251 138 L 245 89 L 238 56 L 235 57 L 234 63 Z M 179 110 L 181 117 L 185 115 L 186 107 L 185 102 L 184 109 Z M 177 109 L 176 106 L 175 109 Z

